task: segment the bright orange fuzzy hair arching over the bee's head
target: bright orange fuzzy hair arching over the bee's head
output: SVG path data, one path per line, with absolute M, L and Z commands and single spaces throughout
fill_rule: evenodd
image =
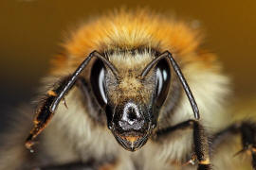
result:
M 79 63 L 93 50 L 133 49 L 149 47 L 163 52 L 169 50 L 174 58 L 191 60 L 198 56 L 201 34 L 187 23 L 175 21 L 149 10 L 119 10 L 103 15 L 73 31 L 64 42 L 65 56 L 55 59 L 53 74 L 63 70 L 74 71 Z M 190 56 L 190 57 L 189 57 Z M 191 58 L 192 57 L 192 58 Z M 212 55 L 200 57 L 212 60 Z M 214 58 L 214 57 L 213 57 Z M 197 58 L 198 59 L 198 58 Z M 184 59 L 183 59 L 184 60 Z

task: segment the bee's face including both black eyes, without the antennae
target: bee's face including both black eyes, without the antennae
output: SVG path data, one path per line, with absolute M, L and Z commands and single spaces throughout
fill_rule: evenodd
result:
M 119 77 L 97 60 L 91 71 L 93 92 L 105 110 L 108 128 L 118 143 L 129 151 L 146 144 L 157 125 L 171 81 L 170 66 L 161 59 L 141 78 L 141 68 L 118 68 Z

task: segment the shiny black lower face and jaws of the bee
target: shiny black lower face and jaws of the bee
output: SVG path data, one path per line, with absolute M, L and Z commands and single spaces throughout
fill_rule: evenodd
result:
M 106 110 L 108 124 L 115 138 L 125 149 L 135 151 L 145 144 L 155 127 L 152 109 L 133 100 Z

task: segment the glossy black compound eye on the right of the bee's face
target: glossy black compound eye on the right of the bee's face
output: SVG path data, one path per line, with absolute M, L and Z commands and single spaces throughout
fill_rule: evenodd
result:
M 160 107 L 164 103 L 169 92 L 171 72 L 166 59 L 161 59 L 155 66 L 155 102 Z

